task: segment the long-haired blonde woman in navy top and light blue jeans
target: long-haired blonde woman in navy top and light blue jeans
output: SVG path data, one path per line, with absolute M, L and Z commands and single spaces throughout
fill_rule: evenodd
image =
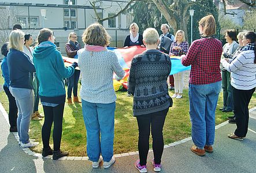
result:
M 29 139 L 28 129 L 34 108 L 34 91 L 32 86 L 35 67 L 23 51 L 24 32 L 14 30 L 9 36 L 10 51 L 7 55 L 10 77 L 10 93 L 15 97 L 18 118 L 17 131 L 21 148 L 36 146 L 39 142 Z

